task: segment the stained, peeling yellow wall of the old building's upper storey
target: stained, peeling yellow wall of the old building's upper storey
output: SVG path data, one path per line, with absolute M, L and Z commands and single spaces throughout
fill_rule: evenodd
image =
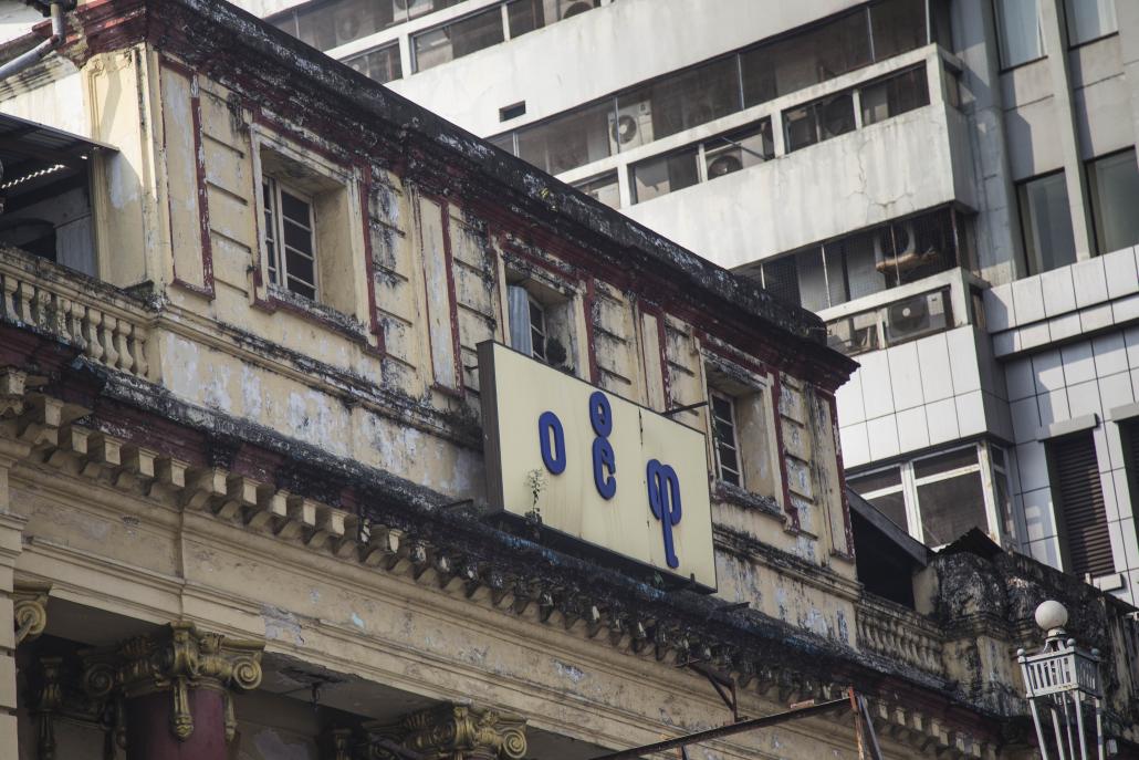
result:
M 99 120 L 90 131 L 122 148 L 105 162 L 113 180 L 97 199 L 103 267 L 116 284 L 144 272 L 154 278 L 158 316 L 150 327 L 149 379 L 200 408 L 203 420 L 205 412 L 220 414 L 446 498 L 481 498 L 475 346 L 508 340 L 508 268 L 560 300 L 557 318 L 575 374 L 659 410 L 705 400 L 705 336 L 736 340 L 715 335 L 723 304 L 695 288 L 662 302 L 647 299 L 638 281 L 646 264 L 634 252 L 622 271 L 607 260 L 611 252 L 592 247 L 596 242 L 546 229 L 556 213 L 542 220 L 467 201 L 446 186 L 466 191 L 459 180 L 421 169 L 417 174 L 413 167 L 426 158 L 409 163 L 379 137 L 370 153 L 349 149 L 276 111 L 289 107 L 293 93 L 265 98 L 240 77 L 223 82 L 145 46 L 100 54 L 82 75 Z M 346 114 L 329 119 L 347 121 Z M 265 177 L 314 194 L 325 280 L 317 302 L 269 283 Z M 321 205 L 329 194 L 338 199 Z M 771 329 L 773 336 L 779 328 Z M 778 359 L 763 335 L 748 340 L 770 356 L 736 349 L 745 363 L 765 367 Z M 804 410 L 800 394 L 810 393 L 811 377 L 785 375 L 782 382 L 795 391 L 780 404 L 778 424 L 772 416 L 771 424 L 754 426 L 754 456 L 763 458 L 768 476 L 756 479 L 759 491 L 747 497 L 775 514 L 756 518 L 751 507 L 735 504 L 720 504 L 718 514 L 751 540 L 850 579 L 853 565 L 833 563 L 820 541 L 828 510 L 842 509 L 834 463 L 812 467 L 814 455 L 802 443 L 830 435 L 830 422 Z M 770 403 L 773 395 L 762 399 Z M 708 431 L 706 410 L 677 418 Z M 781 447 L 775 434 L 780 426 Z M 792 504 L 772 466 L 780 457 Z M 795 530 L 787 530 L 780 509 L 798 513 Z M 724 595 L 760 594 L 754 579 L 771 558 L 738 551 L 731 562 L 741 564 L 724 565 L 738 579 L 728 581 Z M 825 587 L 769 586 L 760 596 L 786 594 L 782 611 L 770 607 L 773 616 L 834 638 L 838 611 L 852 613 L 847 600 L 828 606 Z M 288 626 L 270 629 L 289 635 Z

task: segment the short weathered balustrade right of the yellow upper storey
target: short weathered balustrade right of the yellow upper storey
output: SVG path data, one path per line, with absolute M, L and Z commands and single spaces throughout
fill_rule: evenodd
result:
M 863 597 L 859 600 L 858 645 L 931 673 L 941 673 L 944 669 L 936 627 L 918 613 L 885 599 Z

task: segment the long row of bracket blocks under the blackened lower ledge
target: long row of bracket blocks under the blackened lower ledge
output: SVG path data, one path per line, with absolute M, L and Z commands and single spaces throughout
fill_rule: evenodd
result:
M 735 677 L 741 688 L 749 687 L 761 697 L 779 703 L 819 697 L 851 684 L 871 694 L 880 687 L 896 694 L 890 704 L 906 703 L 906 714 L 911 716 L 908 720 L 924 726 L 933 724 L 920 716 L 940 714 L 959 698 L 945 692 L 943 683 L 933 685 L 936 678 L 916 678 L 906 668 L 885 672 L 883 668 L 888 663 L 878 657 L 871 663 L 855 651 L 827 648 L 814 637 L 754 613 L 737 614 L 730 621 L 721 616 L 712 624 L 718 606 L 713 599 L 667 595 L 560 555 L 551 565 L 554 555 L 541 546 L 457 521 L 418 500 L 400 501 L 410 512 L 396 523 L 403 526 L 396 528 L 221 467 L 190 466 L 129 439 L 62 423 L 60 415 L 44 418 L 43 409 L 62 407 L 62 402 L 40 393 L 26 397 L 30 403 L 25 406 L 31 408 L 9 420 L 7 427 L 0 420 L 0 438 L 33 435 L 39 446 L 28 458 L 31 466 L 59 468 L 69 476 L 134 498 L 157 500 L 174 509 L 212 516 L 238 530 L 254 530 L 342 561 L 407 575 L 420 585 L 462 595 L 511 615 L 607 641 L 631 655 L 669 664 L 707 662 Z M 39 426 L 26 424 L 28 415 L 41 420 Z M 405 498 L 395 495 L 401 497 Z M 361 505 L 361 510 L 376 514 L 368 505 Z M 442 530 L 444 526 L 448 530 Z M 480 545 L 481 538 L 487 546 Z M 588 583 L 581 580 L 587 575 Z M 624 594 L 618 593 L 618 587 Z M 812 654 L 789 660 L 796 647 Z M 116 670 L 110 668 L 108 672 L 100 678 L 109 678 L 105 687 L 114 688 Z M 951 725 L 959 729 L 969 726 L 973 735 L 990 741 L 999 735 L 993 717 L 983 708 L 959 711 Z M 934 746 L 945 746 L 940 738 L 931 741 Z M 949 757 L 985 757 L 985 747 L 992 746 L 975 739 L 966 745 L 972 749 Z

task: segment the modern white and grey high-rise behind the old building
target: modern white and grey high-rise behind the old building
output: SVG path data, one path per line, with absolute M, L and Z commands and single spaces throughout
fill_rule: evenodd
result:
M 245 5 L 822 316 L 915 538 L 1139 600 L 1136 3 Z

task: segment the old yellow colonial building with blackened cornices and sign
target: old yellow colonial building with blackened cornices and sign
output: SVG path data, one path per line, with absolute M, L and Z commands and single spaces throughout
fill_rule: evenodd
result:
M 1048 597 L 1133 752 L 1133 608 L 849 493 L 818 318 L 229 5 L 64 21 L 0 83 L 0 758 L 1032 757 Z

